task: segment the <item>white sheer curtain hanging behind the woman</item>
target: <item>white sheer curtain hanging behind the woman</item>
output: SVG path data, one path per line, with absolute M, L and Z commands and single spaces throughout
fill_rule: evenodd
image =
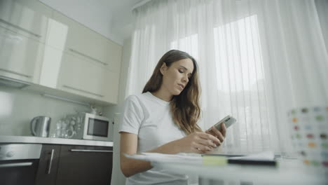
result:
M 186 51 L 200 69 L 199 125 L 238 119 L 227 152 L 289 151 L 287 110 L 328 103 L 327 33 L 314 1 L 153 0 L 134 14 L 126 95 L 142 92 L 166 51 Z

